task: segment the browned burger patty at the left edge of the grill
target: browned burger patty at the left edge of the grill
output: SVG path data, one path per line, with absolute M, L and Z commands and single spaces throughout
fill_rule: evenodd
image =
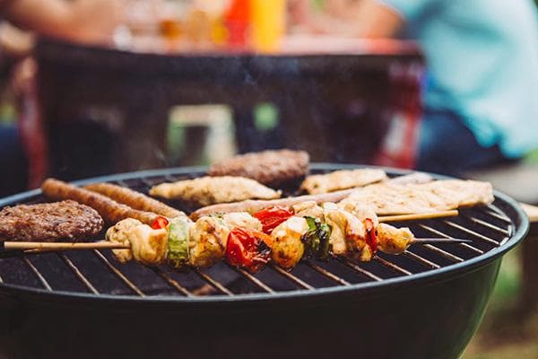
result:
M 103 228 L 93 208 L 72 200 L 5 207 L 0 211 L 1 241 L 78 241 Z

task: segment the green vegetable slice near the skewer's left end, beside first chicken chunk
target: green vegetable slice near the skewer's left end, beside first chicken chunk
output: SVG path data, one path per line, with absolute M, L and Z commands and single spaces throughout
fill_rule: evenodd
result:
M 169 223 L 168 262 L 175 269 L 188 265 L 188 223 L 184 218 L 174 218 Z

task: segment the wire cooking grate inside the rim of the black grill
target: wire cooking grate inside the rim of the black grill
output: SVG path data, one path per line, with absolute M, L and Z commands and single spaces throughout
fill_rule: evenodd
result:
M 318 166 L 319 171 L 340 167 Z M 122 186 L 147 193 L 162 181 L 193 178 L 203 174 L 200 169 L 137 172 L 105 178 Z M 103 179 L 100 179 L 103 180 Z M 25 196 L 0 201 L 0 206 L 17 203 L 37 203 L 43 198 L 38 191 Z M 173 206 L 179 206 L 173 203 Z M 20 258 L 0 259 L 0 284 L 48 292 L 87 293 L 120 296 L 200 297 L 209 295 L 233 296 L 243 293 L 277 295 L 290 291 L 315 291 L 332 286 L 360 286 L 386 279 L 436 271 L 480 257 L 506 245 L 514 235 L 516 224 L 500 207 L 504 200 L 496 198 L 485 208 L 460 211 L 454 219 L 432 219 L 421 222 L 397 223 L 408 225 L 418 237 L 457 237 L 471 243 L 414 245 L 401 256 L 380 253 L 369 263 L 347 258 L 329 262 L 303 261 L 291 272 L 267 266 L 252 275 L 247 271 L 219 263 L 207 269 L 182 273 L 169 267 L 143 267 L 136 263 L 118 264 L 109 251 L 67 251 L 43 253 Z M 179 206 L 181 207 L 181 206 Z M 181 207 L 182 209 L 189 209 Z

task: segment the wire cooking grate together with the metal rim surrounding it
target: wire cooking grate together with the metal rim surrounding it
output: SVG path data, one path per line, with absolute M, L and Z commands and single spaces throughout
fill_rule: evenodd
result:
M 357 166 L 320 163 L 312 166 L 312 172 L 351 168 Z M 387 173 L 398 176 L 409 172 Z M 147 193 L 152 185 L 163 181 L 202 175 L 204 168 L 178 168 L 100 177 L 77 184 L 109 181 Z M 0 207 L 43 200 L 40 190 L 33 190 L 0 200 Z M 349 291 L 367 293 L 386 285 L 438 281 L 484 266 L 525 237 L 528 218 L 513 199 L 496 191 L 490 206 L 462 209 L 455 218 L 397 223 L 404 225 L 417 237 L 455 237 L 472 242 L 417 244 L 400 256 L 379 253 L 369 263 L 346 258 L 332 258 L 326 263 L 303 261 L 291 272 L 270 265 L 255 275 L 225 263 L 185 273 L 165 265 L 122 265 L 108 250 L 43 253 L 1 258 L 0 293 L 159 302 L 256 301 Z

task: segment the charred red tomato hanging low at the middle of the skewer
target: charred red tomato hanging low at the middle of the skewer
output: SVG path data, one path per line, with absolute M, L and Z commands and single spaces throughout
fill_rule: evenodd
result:
M 236 267 L 242 267 L 254 273 L 269 261 L 271 250 L 265 243 L 267 235 L 236 227 L 228 235 L 226 260 Z

